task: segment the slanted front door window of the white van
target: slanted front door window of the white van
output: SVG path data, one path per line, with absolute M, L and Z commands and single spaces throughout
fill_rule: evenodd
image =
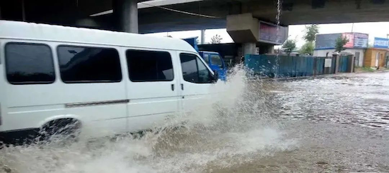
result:
M 207 66 L 194 54 L 180 54 L 182 76 L 190 83 L 211 83 Z

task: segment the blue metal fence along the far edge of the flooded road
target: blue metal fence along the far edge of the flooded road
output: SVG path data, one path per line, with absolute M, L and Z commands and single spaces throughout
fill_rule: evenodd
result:
M 331 59 L 331 66 L 325 67 L 325 59 Z M 348 60 L 343 60 L 347 69 Z M 315 76 L 335 73 L 335 58 L 285 55 L 245 55 L 245 66 L 253 73 L 269 77 Z M 340 67 L 339 67 L 340 68 Z M 343 67 L 342 67 L 343 69 Z M 345 72 L 345 71 L 344 71 Z

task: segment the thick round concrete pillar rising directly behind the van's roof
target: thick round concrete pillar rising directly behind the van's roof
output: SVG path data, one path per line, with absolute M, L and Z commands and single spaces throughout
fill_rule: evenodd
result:
M 138 1 L 113 0 L 114 20 L 120 31 L 138 33 Z

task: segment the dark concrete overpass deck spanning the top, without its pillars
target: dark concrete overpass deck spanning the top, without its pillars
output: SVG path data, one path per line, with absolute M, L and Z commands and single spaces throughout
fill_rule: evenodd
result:
M 0 18 L 120 30 L 112 14 L 115 1 L 127 5 L 124 0 L 1 0 Z M 226 16 L 239 13 L 274 23 L 277 15 L 276 0 L 133 1 L 141 2 L 141 33 L 226 28 Z M 389 21 L 389 1 L 385 0 L 283 0 L 282 9 L 281 25 Z M 101 12 L 108 13 L 91 16 Z

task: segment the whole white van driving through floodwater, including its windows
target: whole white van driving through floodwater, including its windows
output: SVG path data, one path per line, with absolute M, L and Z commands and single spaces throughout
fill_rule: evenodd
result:
M 0 140 L 72 122 L 91 138 L 150 129 L 216 76 L 183 40 L 0 20 Z

